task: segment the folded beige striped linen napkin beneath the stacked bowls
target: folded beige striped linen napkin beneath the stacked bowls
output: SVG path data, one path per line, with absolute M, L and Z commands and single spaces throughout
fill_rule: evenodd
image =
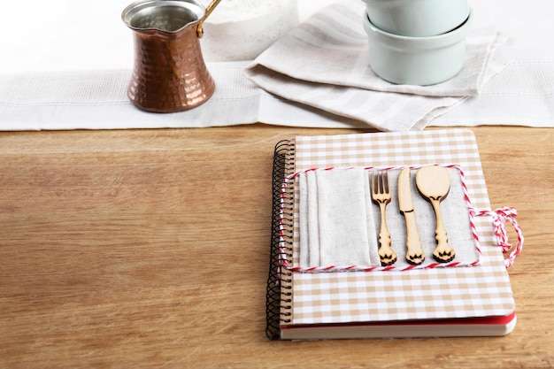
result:
M 347 0 L 315 13 L 256 58 L 247 76 L 282 98 L 381 130 L 406 131 L 422 129 L 479 94 L 504 67 L 492 58 L 504 38 L 487 27 L 467 37 L 464 68 L 449 81 L 422 87 L 381 80 L 369 66 L 359 3 Z

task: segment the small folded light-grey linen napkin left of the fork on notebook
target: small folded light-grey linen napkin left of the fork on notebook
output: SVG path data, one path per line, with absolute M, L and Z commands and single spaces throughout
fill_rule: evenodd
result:
M 367 173 L 315 171 L 298 181 L 300 265 L 379 264 Z

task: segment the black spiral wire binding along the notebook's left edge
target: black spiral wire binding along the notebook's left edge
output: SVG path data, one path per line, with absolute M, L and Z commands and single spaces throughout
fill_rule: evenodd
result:
M 282 260 L 292 258 L 292 231 L 285 230 L 281 234 L 281 209 L 285 207 L 291 210 L 292 203 L 281 195 L 285 177 L 294 171 L 294 150 L 291 141 L 277 142 L 273 156 L 272 236 L 265 296 L 265 334 L 270 340 L 278 339 L 281 336 L 281 323 L 290 321 L 290 313 L 281 312 L 281 307 L 288 310 L 292 303 L 291 287 L 288 285 L 291 274 L 282 267 Z

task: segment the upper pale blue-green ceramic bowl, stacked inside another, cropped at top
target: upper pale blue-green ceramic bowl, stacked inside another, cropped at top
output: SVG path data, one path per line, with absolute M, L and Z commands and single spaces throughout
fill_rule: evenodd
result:
M 442 35 L 469 16 L 467 0 L 362 0 L 373 25 L 389 34 Z

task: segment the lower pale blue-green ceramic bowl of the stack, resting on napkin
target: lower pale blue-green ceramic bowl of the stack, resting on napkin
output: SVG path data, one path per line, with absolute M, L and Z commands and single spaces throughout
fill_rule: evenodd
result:
M 447 34 L 407 37 L 375 27 L 365 14 L 369 65 L 383 80 L 396 84 L 427 86 L 447 81 L 464 65 L 466 36 L 472 22 L 470 12 L 460 27 Z

